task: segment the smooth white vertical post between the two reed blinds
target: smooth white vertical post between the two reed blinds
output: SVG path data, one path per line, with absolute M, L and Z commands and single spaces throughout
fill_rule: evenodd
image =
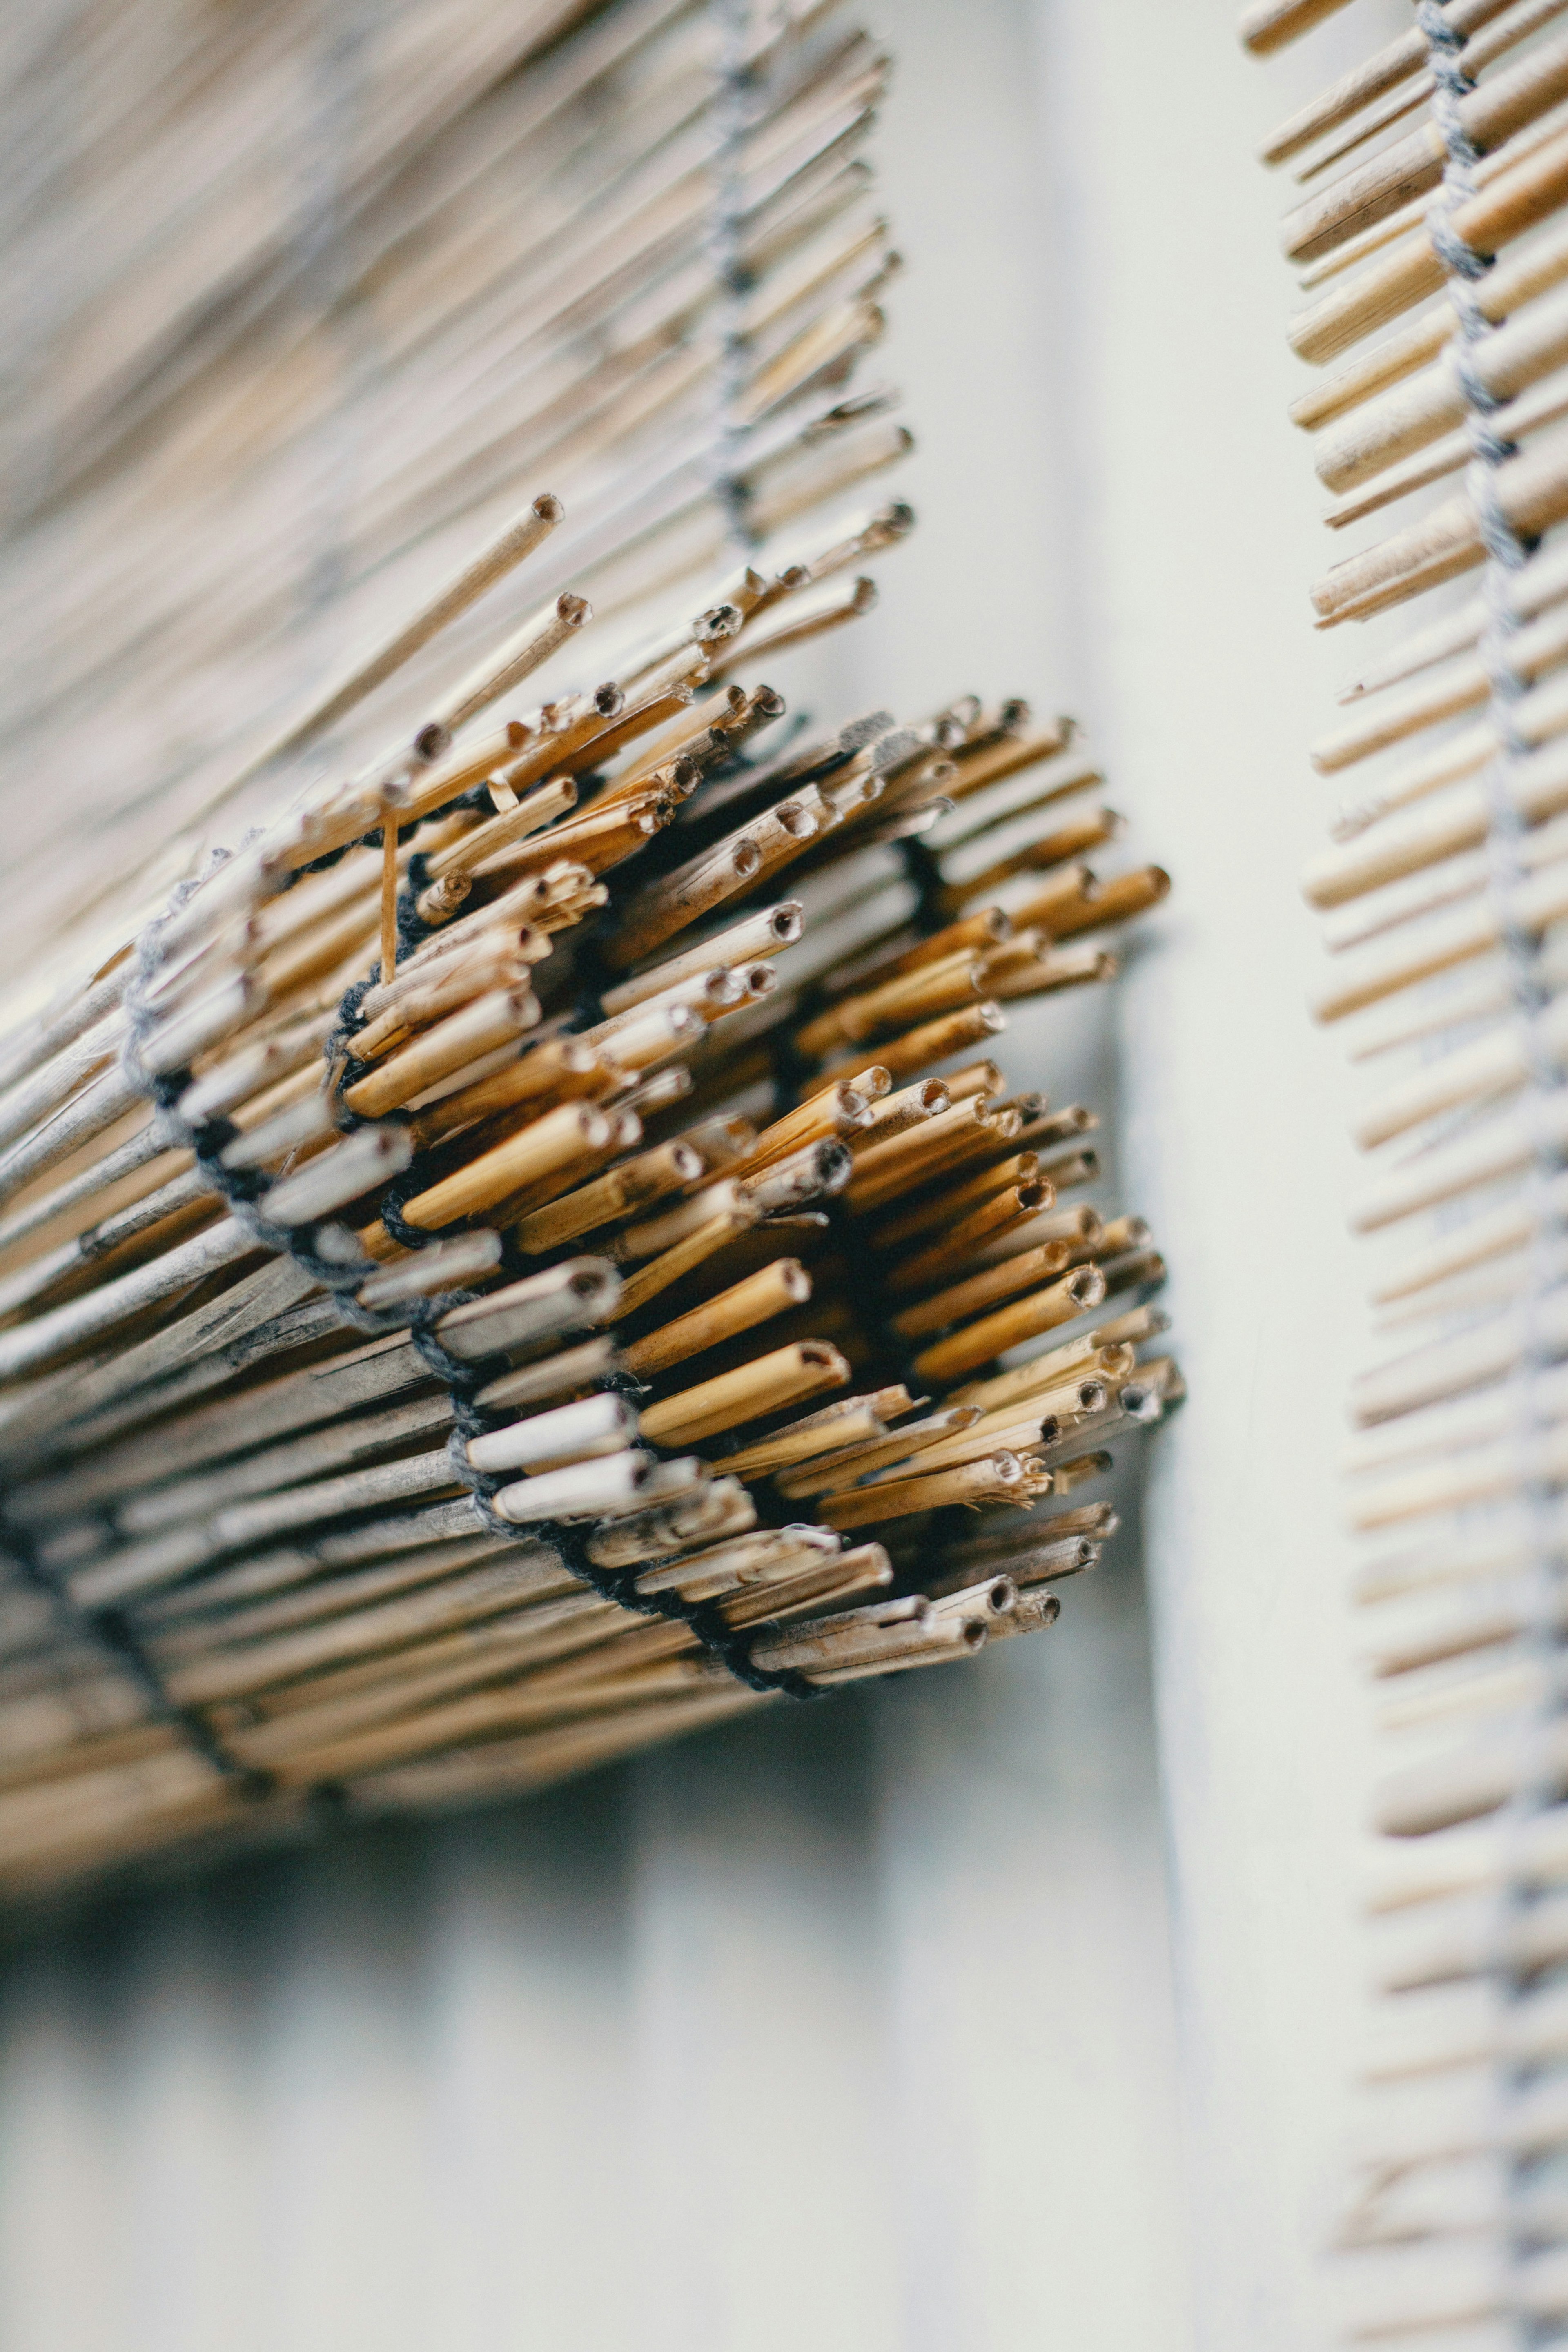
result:
M 1356 649 L 1309 628 L 1326 564 L 1305 374 L 1258 139 L 1408 12 L 1361 0 L 1258 66 L 1227 0 L 1039 0 L 1070 256 L 1081 668 L 1175 873 L 1121 997 L 1128 1164 L 1168 1237 L 1192 1402 L 1147 1569 L 1173 1851 L 1199 2340 L 1324 2345 L 1359 2039 L 1363 1710 L 1335 1491 L 1363 1268 L 1338 1049 L 1298 873 L 1328 795 L 1300 746 Z

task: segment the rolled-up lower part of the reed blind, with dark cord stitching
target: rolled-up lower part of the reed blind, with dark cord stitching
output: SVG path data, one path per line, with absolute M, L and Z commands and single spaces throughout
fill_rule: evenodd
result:
M 538 1785 L 1098 1557 L 1105 1503 L 1034 1505 L 1180 1395 L 1164 1268 L 990 1051 L 1164 875 L 1081 863 L 1119 821 L 1023 703 L 743 753 L 780 696 L 705 649 L 788 590 L 738 593 L 284 816 L 12 1035 L 7 1884 Z

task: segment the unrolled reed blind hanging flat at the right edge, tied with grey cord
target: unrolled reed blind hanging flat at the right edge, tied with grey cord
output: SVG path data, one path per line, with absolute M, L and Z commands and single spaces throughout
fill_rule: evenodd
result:
M 1568 2340 L 1568 12 L 1425 7 L 1262 153 L 1326 365 L 1291 414 L 1368 524 L 1312 602 L 1389 616 L 1312 748 L 1349 797 L 1307 877 L 1371 1077 L 1356 1225 L 1399 1251 L 1352 1397 L 1387 1745 L 1352 2336 L 1490 2352 Z

